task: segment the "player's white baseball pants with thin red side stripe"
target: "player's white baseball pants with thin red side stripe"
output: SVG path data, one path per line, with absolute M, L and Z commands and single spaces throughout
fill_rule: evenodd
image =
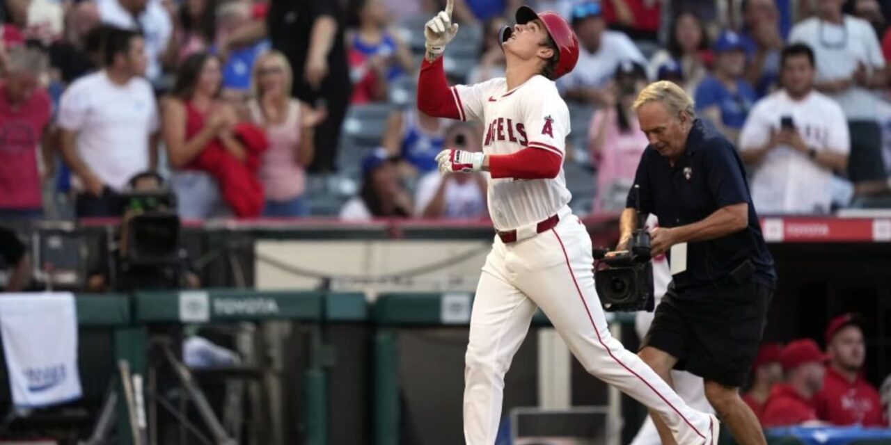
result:
M 464 438 L 492 445 L 501 421 L 504 374 L 540 307 L 576 359 L 662 416 L 683 445 L 711 443 L 710 418 L 691 409 L 653 370 L 609 335 L 594 291 L 591 238 L 560 212 L 550 231 L 511 244 L 495 237 L 470 316 L 464 370 Z

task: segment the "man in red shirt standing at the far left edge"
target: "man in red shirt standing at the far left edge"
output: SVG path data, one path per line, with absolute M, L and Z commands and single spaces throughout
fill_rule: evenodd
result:
M 41 141 L 51 103 L 39 79 L 48 61 L 37 49 L 17 46 L 7 62 L 0 80 L 0 219 L 35 218 L 43 214 L 37 146 L 48 148 Z

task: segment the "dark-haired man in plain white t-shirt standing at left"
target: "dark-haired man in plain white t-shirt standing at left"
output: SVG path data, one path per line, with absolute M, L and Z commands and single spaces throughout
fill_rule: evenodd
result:
M 78 195 L 78 216 L 110 216 L 114 194 L 158 163 L 158 108 L 145 72 L 143 37 L 114 29 L 104 69 L 80 77 L 61 96 L 61 152 Z

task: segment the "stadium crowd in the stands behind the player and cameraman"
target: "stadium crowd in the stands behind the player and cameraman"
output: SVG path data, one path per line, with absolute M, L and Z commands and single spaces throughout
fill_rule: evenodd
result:
M 516 0 L 459 0 L 454 83 L 503 75 Z M 3 0 L 0 216 L 103 216 L 157 171 L 182 217 L 481 218 L 486 178 L 435 174 L 478 125 L 413 106 L 437 0 Z M 576 211 L 616 211 L 657 79 L 740 148 L 761 214 L 886 207 L 891 5 L 878 0 L 539 0 L 582 53 L 565 166 Z M 666 26 L 661 26 L 663 23 Z

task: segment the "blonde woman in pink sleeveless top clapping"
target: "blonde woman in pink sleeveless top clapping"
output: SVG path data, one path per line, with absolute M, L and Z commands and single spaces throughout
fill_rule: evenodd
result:
M 306 103 L 290 97 L 293 75 L 290 64 L 278 51 L 263 53 L 254 63 L 251 76 L 251 118 L 266 128 L 269 149 L 260 159 L 260 182 L 266 194 L 264 216 L 306 216 L 303 193 L 306 166 L 315 155 L 314 127 L 325 118 Z

